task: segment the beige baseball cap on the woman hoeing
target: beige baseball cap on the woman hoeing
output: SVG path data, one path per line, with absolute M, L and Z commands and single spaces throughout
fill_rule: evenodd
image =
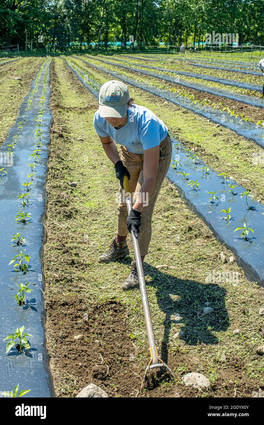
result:
M 105 82 L 99 93 L 99 114 L 103 118 L 122 118 L 128 109 L 128 101 L 128 88 L 123 82 Z

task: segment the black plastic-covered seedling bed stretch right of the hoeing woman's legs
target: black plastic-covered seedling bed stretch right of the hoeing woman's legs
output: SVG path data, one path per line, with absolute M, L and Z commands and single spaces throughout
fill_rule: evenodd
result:
M 219 175 L 221 173 L 207 167 L 195 152 L 186 150 L 177 139 L 172 140 L 172 166 L 167 178 L 217 241 L 234 253 L 248 280 L 264 286 L 264 206 L 256 200 L 253 202 L 252 195 L 236 181 Z M 241 235 L 243 229 L 236 231 L 244 224 L 253 232 L 245 229 L 246 234 Z

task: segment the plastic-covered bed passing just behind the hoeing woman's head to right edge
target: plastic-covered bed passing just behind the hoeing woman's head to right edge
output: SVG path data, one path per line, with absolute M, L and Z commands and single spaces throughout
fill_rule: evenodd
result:
M 243 120 L 243 123 L 241 120 L 239 122 L 236 121 L 236 118 L 233 115 L 230 115 L 229 113 L 226 113 L 225 111 L 217 110 L 217 108 L 211 108 L 207 105 L 204 106 L 202 103 L 199 102 L 198 108 L 196 108 L 195 104 L 193 103 L 191 96 L 185 97 L 185 96 L 179 96 L 177 94 L 171 93 L 167 90 L 161 90 L 159 88 L 156 88 L 155 86 L 151 86 L 147 83 L 140 83 L 136 80 L 130 78 L 130 77 L 124 77 L 122 74 L 114 71 L 110 71 L 107 68 L 100 67 L 98 65 L 94 65 L 91 62 L 87 62 L 84 59 L 83 62 L 86 62 L 88 65 L 93 66 L 94 68 L 97 68 L 100 71 L 106 72 L 110 75 L 113 75 L 117 79 L 120 79 L 121 81 L 134 85 L 135 87 L 141 88 L 142 90 L 148 91 L 152 94 L 156 94 L 157 96 L 160 96 L 166 100 L 169 100 L 170 102 L 173 102 L 175 105 L 181 106 L 183 108 L 186 108 L 192 112 L 195 112 L 199 115 L 204 116 L 207 119 L 211 119 L 211 121 L 216 122 L 217 124 L 220 124 L 224 127 L 229 128 L 230 130 L 235 131 L 240 136 L 245 137 L 245 139 L 252 140 L 262 148 L 264 148 L 264 129 L 261 127 L 258 127 L 256 124 L 253 124 L 251 122 L 246 122 Z M 235 121 L 235 122 L 234 122 Z

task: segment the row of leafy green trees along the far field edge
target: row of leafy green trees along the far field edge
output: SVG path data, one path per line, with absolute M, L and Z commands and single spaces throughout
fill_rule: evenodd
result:
M 200 46 L 213 31 L 264 45 L 264 1 L 0 0 L 2 47 Z

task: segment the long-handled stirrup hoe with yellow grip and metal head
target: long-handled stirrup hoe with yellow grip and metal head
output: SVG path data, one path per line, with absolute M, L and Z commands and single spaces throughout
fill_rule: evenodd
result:
M 129 189 L 129 183 L 128 183 L 128 177 L 127 176 L 124 176 L 124 178 L 123 178 L 123 187 L 124 187 L 125 194 L 126 194 L 125 201 L 126 201 L 126 204 L 127 204 L 127 207 L 128 207 L 128 215 L 129 215 L 130 210 L 132 208 L 132 201 L 131 201 L 130 196 L 128 195 L 128 194 L 130 194 L 130 189 Z M 141 292 L 141 297 L 142 297 L 145 322 L 146 322 L 146 326 L 147 326 L 147 338 L 148 338 L 148 342 L 149 342 L 149 346 L 150 346 L 150 362 L 146 367 L 145 374 L 144 374 L 144 380 L 146 379 L 147 371 L 149 371 L 150 369 L 154 369 L 154 368 L 164 367 L 173 376 L 173 373 L 170 370 L 169 366 L 166 363 L 164 363 L 164 361 L 161 360 L 158 357 L 158 348 L 156 346 L 153 324 L 152 324 L 152 320 L 151 320 L 150 305 L 149 305 L 149 302 L 148 302 L 144 271 L 143 271 L 143 266 L 142 266 L 140 250 L 139 250 L 139 241 L 135 237 L 133 231 L 131 232 L 131 236 L 132 236 L 132 242 L 133 242 L 134 253 L 135 253 L 135 258 L 136 258 L 136 269 L 137 269 L 138 277 L 139 277 L 139 286 L 140 286 L 140 292 Z

